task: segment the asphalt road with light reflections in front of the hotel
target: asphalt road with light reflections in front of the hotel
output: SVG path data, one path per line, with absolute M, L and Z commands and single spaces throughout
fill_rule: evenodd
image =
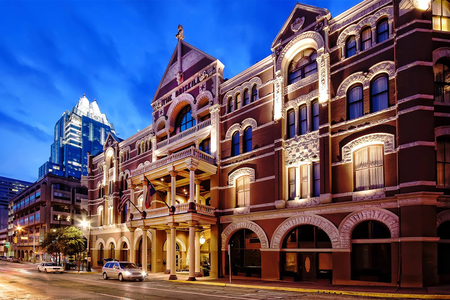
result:
M 0 261 L 0 299 L 11 300 L 365 300 L 366 297 L 192 285 L 145 279 L 103 280 L 101 274 L 38 273 L 37 264 Z M 373 298 L 388 299 L 388 298 Z

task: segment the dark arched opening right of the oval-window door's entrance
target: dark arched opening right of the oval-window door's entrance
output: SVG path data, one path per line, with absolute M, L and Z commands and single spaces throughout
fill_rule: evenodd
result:
M 351 280 L 392 282 L 391 231 L 378 221 L 366 220 L 351 232 Z

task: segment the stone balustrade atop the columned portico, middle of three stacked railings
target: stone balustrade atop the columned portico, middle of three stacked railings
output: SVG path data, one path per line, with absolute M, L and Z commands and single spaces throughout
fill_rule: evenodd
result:
M 167 156 L 160 160 L 154 161 L 149 165 L 141 166 L 135 170 L 131 170 L 131 176 L 133 177 L 133 176 L 141 175 L 143 173 L 149 172 L 151 170 L 155 170 L 162 166 L 169 165 L 175 161 L 179 161 L 180 159 L 184 159 L 189 156 L 197 157 L 198 159 L 200 159 L 202 161 L 206 161 L 207 163 L 210 163 L 211 165 L 215 164 L 215 158 L 213 156 L 211 156 L 208 153 L 205 153 L 203 151 L 200 151 L 192 146 L 189 149 L 185 149 L 180 152 L 175 152 L 175 153 L 171 154 L 170 156 Z

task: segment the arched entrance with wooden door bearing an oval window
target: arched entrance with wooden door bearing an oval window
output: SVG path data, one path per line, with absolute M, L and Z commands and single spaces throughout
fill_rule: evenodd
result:
M 333 278 L 331 252 L 307 250 L 332 248 L 328 234 L 321 228 L 311 224 L 292 228 L 284 237 L 282 248 L 283 280 L 330 282 Z

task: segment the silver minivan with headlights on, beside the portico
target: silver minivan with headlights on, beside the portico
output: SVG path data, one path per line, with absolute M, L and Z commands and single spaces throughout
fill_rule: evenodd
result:
M 139 269 L 136 264 L 129 261 L 111 261 L 103 265 L 103 279 L 119 278 L 120 281 L 125 279 L 143 281 L 147 273 Z

